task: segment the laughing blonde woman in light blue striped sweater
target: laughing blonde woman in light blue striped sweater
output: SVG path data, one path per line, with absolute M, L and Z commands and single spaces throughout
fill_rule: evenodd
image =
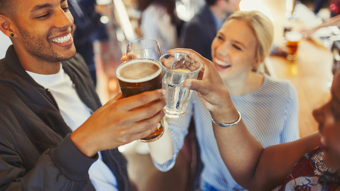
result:
M 297 95 L 291 82 L 254 71 L 269 55 L 272 41 L 273 25 L 267 16 L 258 11 L 238 11 L 224 22 L 211 44 L 212 62 L 236 109 L 248 130 L 264 147 L 299 138 Z M 168 122 L 171 154 L 166 153 L 164 148 L 155 152 L 150 145 L 155 166 L 161 171 L 168 171 L 174 166 L 192 116 L 203 163 L 199 189 L 243 190 L 223 163 L 212 130 L 210 112 L 196 94 L 192 95 L 186 114 Z

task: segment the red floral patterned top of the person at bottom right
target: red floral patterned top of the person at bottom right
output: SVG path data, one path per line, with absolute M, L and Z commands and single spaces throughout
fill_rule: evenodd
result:
M 272 191 L 340 191 L 340 173 L 326 168 L 318 147 L 297 161 L 284 184 Z

